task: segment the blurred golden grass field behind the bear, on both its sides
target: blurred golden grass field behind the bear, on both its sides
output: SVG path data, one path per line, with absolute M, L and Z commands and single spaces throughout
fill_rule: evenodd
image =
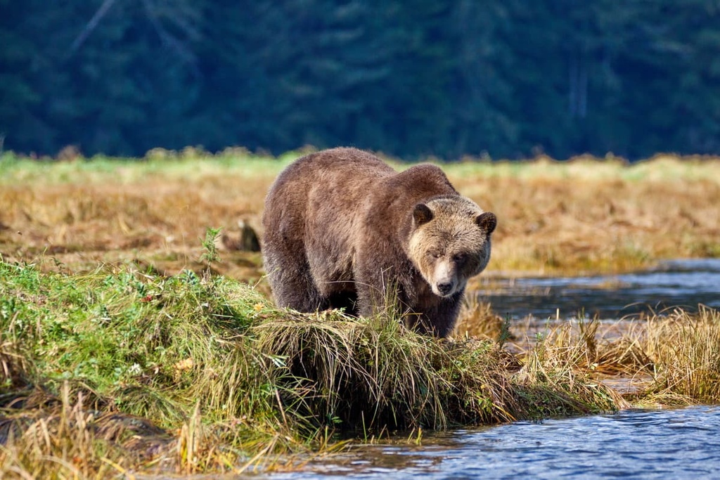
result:
M 72 271 L 130 260 L 163 273 L 198 270 L 198 238 L 207 227 L 232 236 L 243 219 L 261 234 L 266 191 L 299 154 L 279 160 L 242 150 L 193 155 L 76 163 L 4 155 L 0 253 L 10 259 L 45 253 Z M 498 214 L 490 275 L 627 271 L 662 258 L 720 255 L 716 158 L 443 168 L 462 194 Z M 223 259 L 215 266 L 219 273 L 261 279 L 258 254 L 229 251 Z

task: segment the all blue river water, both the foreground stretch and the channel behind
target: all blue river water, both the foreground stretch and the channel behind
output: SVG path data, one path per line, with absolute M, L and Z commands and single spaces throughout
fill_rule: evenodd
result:
M 504 282 L 504 283 L 503 283 Z M 480 291 L 511 319 L 617 320 L 698 304 L 720 308 L 720 260 L 672 261 L 616 276 L 518 279 Z M 559 309 L 559 310 L 558 310 Z M 632 321 L 632 320 L 631 320 Z M 356 445 L 273 479 L 720 479 L 720 407 L 615 414 L 452 430 Z

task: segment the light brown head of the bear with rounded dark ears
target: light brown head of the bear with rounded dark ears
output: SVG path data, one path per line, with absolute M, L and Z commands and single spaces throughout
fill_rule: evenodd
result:
M 431 199 L 413 209 L 408 255 L 434 294 L 452 296 L 487 266 L 497 225 L 495 214 L 470 199 Z

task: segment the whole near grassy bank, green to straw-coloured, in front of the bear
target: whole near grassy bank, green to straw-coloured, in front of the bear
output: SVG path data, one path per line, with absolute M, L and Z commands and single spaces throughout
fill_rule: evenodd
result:
M 248 284 L 191 271 L 0 261 L 0 278 L 4 475 L 271 468 L 340 448 L 336 431 L 626 407 L 599 381 L 608 371 L 649 376 L 632 402 L 720 401 L 720 314 L 709 309 L 612 343 L 598 343 L 593 322 L 561 327 L 516 356 L 502 340 L 436 340 L 389 315 L 278 310 Z

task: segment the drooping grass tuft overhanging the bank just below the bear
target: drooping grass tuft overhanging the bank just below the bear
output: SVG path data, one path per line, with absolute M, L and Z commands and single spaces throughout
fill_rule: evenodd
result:
M 511 418 L 505 359 L 492 343 L 442 342 L 397 318 L 340 312 L 290 316 L 256 331 L 258 348 L 282 359 L 284 403 L 300 417 L 314 412 L 312 427 L 367 433 Z

